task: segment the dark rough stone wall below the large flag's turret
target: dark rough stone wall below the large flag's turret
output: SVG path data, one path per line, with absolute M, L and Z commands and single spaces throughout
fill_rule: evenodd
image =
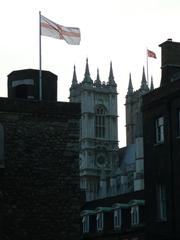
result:
M 79 104 L 0 98 L 2 239 L 79 240 L 79 118 Z

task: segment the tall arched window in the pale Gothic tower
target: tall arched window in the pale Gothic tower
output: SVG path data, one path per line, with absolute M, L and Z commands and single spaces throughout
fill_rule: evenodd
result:
M 97 138 L 105 138 L 105 108 L 98 106 L 95 111 L 95 136 Z

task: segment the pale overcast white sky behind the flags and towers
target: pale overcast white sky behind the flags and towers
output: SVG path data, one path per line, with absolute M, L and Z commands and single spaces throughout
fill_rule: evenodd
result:
M 131 73 L 134 90 L 140 87 L 143 66 L 159 87 L 161 49 L 172 38 L 180 42 L 179 0 L 2 0 L 0 8 L 0 97 L 7 96 L 7 75 L 14 70 L 39 68 L 39 11 L 52 21 L 79 27 L 81 43 L 42 36 L 42 69 L 58 76 L 58 101 L 69 101 L 76 66 L 78 82 L 84 77 L 86 58 L 91 78 L 99 68 L 107 82 L 112 61 L 118 91 L 119 146 L 126 144 L 125 96 Z

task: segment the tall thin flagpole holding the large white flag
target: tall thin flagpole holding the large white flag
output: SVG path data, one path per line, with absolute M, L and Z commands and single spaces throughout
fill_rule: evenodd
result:
M 39 11 L 39 100 L 42 100 L 41 12 Z

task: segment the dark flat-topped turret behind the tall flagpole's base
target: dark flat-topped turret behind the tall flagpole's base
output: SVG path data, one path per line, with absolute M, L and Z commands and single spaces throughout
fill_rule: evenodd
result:
M 40 99 L 39 70 L 24 69 L 8 75 L 8 98 Z M 42 71 L 42 100 L 57 101 L 57 76 Z

